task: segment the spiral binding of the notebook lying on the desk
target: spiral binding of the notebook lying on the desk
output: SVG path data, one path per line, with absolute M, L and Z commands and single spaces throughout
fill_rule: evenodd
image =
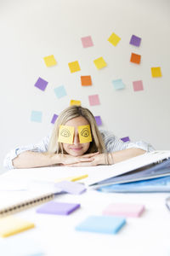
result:
M 0 210 L 0 218 L 6 217 L 7 215 L 13 214 L 15 212 L 20 212 L 30 207 L 35 207 L 37 205 L 40 205 L 46 201 L 51 201 L 53 199 L 54 199 L 54 194 L 50 193 L 46 195 L 37 196 L 30 200 L 26 200 L 24 202 L 14 204 L 13 206 L 10 206 L 10 207 L 5 207 L 2 210 Z

